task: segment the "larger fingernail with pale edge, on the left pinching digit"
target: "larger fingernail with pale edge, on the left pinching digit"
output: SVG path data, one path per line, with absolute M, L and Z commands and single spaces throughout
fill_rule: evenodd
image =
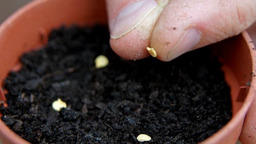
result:
M 125 6 L 110 22 L 110 37 L 120 38 L 132 31 L 156 6 L 155 0 L 139 0 Z

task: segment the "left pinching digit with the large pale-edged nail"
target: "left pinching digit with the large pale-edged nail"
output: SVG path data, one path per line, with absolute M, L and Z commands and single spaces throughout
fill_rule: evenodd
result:
M 168 0 L 106 0 L 110 45 L 130 60 L 149 55 L 150 36 Z

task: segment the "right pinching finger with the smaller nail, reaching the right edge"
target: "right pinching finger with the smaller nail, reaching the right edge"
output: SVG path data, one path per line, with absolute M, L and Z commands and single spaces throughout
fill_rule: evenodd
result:
M 160 60 L 234 36 L 256 19 L 255 0 L 172 0 L 159 17 L 150 47 Z

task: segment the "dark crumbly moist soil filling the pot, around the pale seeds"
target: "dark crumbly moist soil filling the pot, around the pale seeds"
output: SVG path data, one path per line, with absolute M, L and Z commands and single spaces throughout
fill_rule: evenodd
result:
M 105 55 L 109 65 L 96 69 Z M 198 143 L 231 118 L 221 64 L 204 48 L 171 62 L 127 61 L 106 27 L 53 30 L 49 44 L 21 58 L 4 81 L 1 119 L 31 143 Z M 68 108 L 52 109 L 60 98 Z

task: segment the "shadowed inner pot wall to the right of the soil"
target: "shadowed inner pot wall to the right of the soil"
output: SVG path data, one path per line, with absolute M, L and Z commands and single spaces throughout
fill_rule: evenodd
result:
M 252 56 L 243 35 L 211 45 L 213 54 L 223 63 L 222 70 L 231 89 L 233 116 L 243 105 L 253 77 Z

